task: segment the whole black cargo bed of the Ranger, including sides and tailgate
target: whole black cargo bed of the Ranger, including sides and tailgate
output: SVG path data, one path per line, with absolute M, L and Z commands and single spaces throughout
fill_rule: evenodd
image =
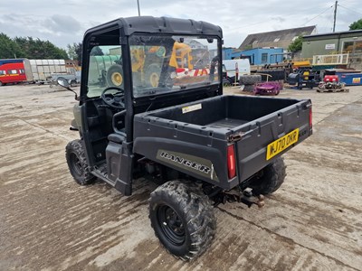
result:
M 197 177 L 232 188 L 311 134 L 310 106 L 308 99 L 218 96 L 137 114 L 134 152 L 161 163 L 169 162 L 160 161 L 162 152 L 172 154 L 168 158 L 184 154 L 194 160 L 202 157 L 210 161 L 204 164 L 208 163 L 217 177 Z M 291 132 L 297 141 L 267 154 L 268 145 Z M 228 145 L 234 145 L 237 157 L 238 174 L 233 180 L 228 179 L 225 165 Z M 177 170 L 190 173 L 185 168 Z

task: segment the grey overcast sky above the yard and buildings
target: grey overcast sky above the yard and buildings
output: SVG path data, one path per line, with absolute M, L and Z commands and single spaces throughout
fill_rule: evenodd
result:
M 361 0 L 338 1 L 336 31 L 362 18 Z M 137 0 L 1 1 L 0 33 L 31 36 L 66 48 L 81 42 L 88 28 L 119 17 L 137 16 Z M 334 1 L 285 0 L 139 0 L 141 15 L 194 19 L 218 24 L 224 46 L 239 47 L 250 33 L 317 25 L 318 33 L 333 28 Z M 359 4 L 359 5 L 358 5 Z

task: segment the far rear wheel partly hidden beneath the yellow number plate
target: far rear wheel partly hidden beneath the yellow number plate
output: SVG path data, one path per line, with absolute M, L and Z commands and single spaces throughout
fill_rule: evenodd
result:
M 252 193 L 255 195 L 271 194 L 281 187 L 286 175 L 284 160 L 282 157 L 278 157 L 257 173 L 248 186 L 252 188 Z

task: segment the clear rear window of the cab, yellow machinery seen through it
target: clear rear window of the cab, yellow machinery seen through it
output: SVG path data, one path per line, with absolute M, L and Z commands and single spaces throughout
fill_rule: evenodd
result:
M 215 38 L 134 34 L 129 46 L 134 97 L 219 83 Z

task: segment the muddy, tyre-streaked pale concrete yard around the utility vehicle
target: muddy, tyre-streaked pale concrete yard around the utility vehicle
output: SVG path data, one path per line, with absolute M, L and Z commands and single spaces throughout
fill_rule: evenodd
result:
M 0 270 L 362 270 L 362 88 L 349 89 L 281 91 L 312 99 L 314 135 L 284 155 L 286 180 L 262 209 L 219 206 L 212 246 L 186 263 L 150 227 L 156 184 L 138 179 L 125 197 L 73 182 L 71 92 L 0 88 Z

